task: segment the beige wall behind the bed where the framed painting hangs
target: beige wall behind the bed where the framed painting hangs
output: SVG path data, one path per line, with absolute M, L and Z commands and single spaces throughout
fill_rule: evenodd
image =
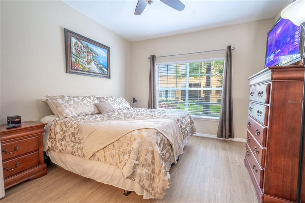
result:
M 66 73 L 64 28 L 110 47 L 111 79 Z M 130 98 L 131 42 L 61 1 L 1 1 L 1 123 L 51 115 L 44 95 Z

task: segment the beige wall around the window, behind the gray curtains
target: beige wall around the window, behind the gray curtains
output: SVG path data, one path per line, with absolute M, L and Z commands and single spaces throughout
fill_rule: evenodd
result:
M 131 96 L 138 100 L 135 107 L 148 106 L 149 55 L 172 55 L 226 48 L 233 51 L 233 110 L 235 137 L 246 138 L 249 102 L 248 77 L 264 69 L 267 31 L 274 19 L 258 20 L 209 30 L 131 43 Z M 162 58 L 158 62 L 224 57 L 224 52 L 206 55 Z M 198 133 L 217 134 L 217 121 L 195 120 Z

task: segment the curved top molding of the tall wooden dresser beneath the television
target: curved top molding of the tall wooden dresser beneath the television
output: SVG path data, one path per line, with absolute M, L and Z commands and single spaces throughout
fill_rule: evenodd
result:
M 270 66 L 249 77 L 250 86 L 271 81 L 304 80 L 304 66 Z

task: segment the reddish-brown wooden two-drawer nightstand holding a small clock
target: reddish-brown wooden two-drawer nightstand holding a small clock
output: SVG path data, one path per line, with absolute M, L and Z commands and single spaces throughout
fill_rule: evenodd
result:
M 42 133 L 46 123 L 24 121 L 19 127 L 1 126 L 1 155 L 5 189 L 47 174 Z

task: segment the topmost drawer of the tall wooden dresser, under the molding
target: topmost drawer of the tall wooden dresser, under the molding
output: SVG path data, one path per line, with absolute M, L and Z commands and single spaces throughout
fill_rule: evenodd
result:
M 269 89 L 270 84 L 250 87 L 250 101 L 269 103 Z

